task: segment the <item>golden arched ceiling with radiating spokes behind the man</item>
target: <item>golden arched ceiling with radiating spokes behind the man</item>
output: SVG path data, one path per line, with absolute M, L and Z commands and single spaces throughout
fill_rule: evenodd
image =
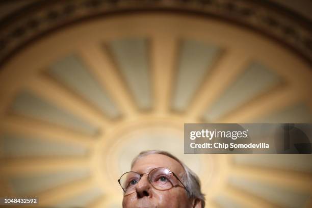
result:
M 30 16 L 46 17 L 49 5 L 71 8 L 67 19 L 50 13 L 52 23 L 8 42 L 15 52 L 3 50 L 10 58 L 0 73 L 1 195 L 120 207 L 120 174 L 139 151 L 158 148 L 199 175 L 209 207 L 310 207 L 310 155 L 183 154 L 184 123 L 311 122 L 308 53 L 290 50 L 257 18 L 239 26 L 242 7 L 253 5 L 245 1 L 146 1 L 142 10 L 162 11 L 126 12 L 139 10 L 133 2 L 45 3 Z M 228 13 L 238 6 L 243 14 Z M 215 18 L 225 11 L 236 20 Z M 28 27 L 27 15 L 19 18 Z

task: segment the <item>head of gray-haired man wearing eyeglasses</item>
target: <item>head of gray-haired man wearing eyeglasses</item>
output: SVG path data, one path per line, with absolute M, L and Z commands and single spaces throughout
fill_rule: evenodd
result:
M 150 176 L 159 174 L 155 168 L 166 168 L 161 170 L 165 170 L 163 175 L 170 175 L 170 179 L 159 175 L 149 180 L 150 172 Z M 196 174 L 169 152 L 143 151 L 133 160 L 131 171 L 131 175 L 137 175 L 131 177 L 141 175 L 141 179 L 131 181 L 131 190 L 123 196 L 123 208 L 203 208 L 205 205 Z

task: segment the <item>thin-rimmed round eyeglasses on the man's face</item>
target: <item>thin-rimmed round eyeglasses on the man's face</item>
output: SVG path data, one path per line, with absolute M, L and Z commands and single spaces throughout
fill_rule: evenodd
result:
M 152 187 L 158 190 L 168 190 L 178 185 L 177 181 L 174 180 L 172 175 L 181 183 L 183 188 L 186 189 L 176 174 L 167 168 L 155 168 L 152 169 L 148 174 L 139 174 L 134 171 L 126 172 L 121 175 L 118 183 L 120 184 L 122 190 L 126 193 L 127 191 L 134 190 L 136 188 L 143 175 L 147 175 L 149 183 L 152 185 Z

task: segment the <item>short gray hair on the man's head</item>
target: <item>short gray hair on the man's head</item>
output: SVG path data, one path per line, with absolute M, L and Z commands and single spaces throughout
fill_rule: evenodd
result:
M 177 159 L 174 155 L 167 151 L 162 150 L 148 150 L 148 151 L 142 151 L 140 154 L 133 159 L 131 163 L 131 168 L 135 165 L 135 163 L 142 157 L 149 155 L 149 154 L 163 154 L 168 156 L 169 158 L 172 158 L 173 160 L 177 161 L 181 166 L 183 167 L 185 174 L 182 177 L 182 181 L 184 186 L 186 187 L 187 195 L 189 199 L 198 199 L 200 200 L 201 207 L 205 207 L 205 196 L 203 193 L 201 193 L 200 190 L 200 180 L 198 176 L 190 169 L 188 166 L 186 166 L 183 162 L 181 162 L 179 159 Z

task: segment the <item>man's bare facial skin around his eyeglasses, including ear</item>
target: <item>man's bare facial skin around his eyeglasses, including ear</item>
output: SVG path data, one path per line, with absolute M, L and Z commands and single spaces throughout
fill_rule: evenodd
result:
M 183 167 L 172 158 L 163 154 L 149 154 L 140 158 L 131 171 L 149 173 L 154 168 L 164 167 L 174 172 L 179 179 L 184 174 Z M 174 176 L 172 176 L 174 177 Z M 180 184 L 177 182 L 177 184 Z M 136 189 L 125 194 L 122 201 L 123 208 L 201 208 L 200 201 L 190 200 L 182 185 L 174 186 L 169 190 L 154 189 L 143 175 Z

